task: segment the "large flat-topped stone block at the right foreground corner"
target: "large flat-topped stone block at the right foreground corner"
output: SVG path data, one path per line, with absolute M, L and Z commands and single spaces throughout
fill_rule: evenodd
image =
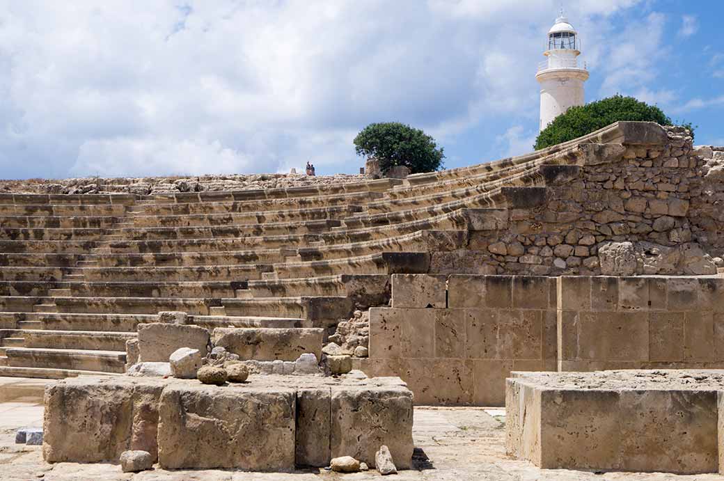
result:
M 723 370 L 523 372 L 506 450 L 545 469 L 718 472 Z

